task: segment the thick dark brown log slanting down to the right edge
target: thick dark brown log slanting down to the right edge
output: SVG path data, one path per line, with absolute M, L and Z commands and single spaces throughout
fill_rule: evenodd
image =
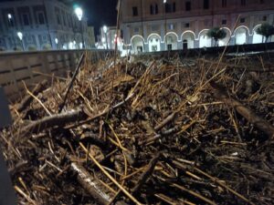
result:
M 236 99 L 229 97 L 224 87 L 221 87 L 214 82 L 211 82 L 210 86 L 214 89 L 214 95 L 217 99 L 220 99 L 228 106 L 235 108 L 241 116 L 248 119 L 248 121 L 254 124 L 256 128 L 265 132 L 269 136 L 269 138 L 274 138 L 274 127 L 270 125 L 267 120 L 258 117 L 258 115 L 252 110 L 245 107 Z

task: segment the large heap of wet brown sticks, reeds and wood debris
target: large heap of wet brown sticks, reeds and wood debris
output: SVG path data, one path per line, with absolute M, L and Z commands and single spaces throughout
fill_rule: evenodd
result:
M 71 77 L 42 82 L 1 132 L 19 204 L 270 204 L 274 76 L 263 62 L 85 61 L 65 102 Z

